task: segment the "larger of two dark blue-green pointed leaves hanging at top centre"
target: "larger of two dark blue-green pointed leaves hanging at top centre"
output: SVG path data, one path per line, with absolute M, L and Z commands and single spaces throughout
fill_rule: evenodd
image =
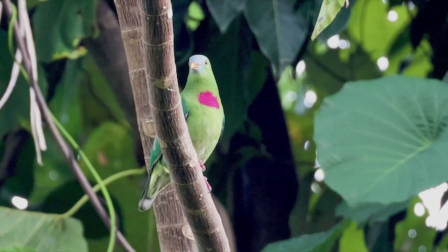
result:
M 279 78 L 307 39 L 303 12 L 294 10 L 293 1 L 247 0 L 244 16 Z

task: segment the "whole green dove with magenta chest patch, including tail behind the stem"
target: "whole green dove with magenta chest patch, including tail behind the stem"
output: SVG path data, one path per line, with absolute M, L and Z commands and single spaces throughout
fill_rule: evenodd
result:
M 190 69 L 187 83 L 181 92 L 182 109 L 199 165 L 204 172 L 203 163 L 214 151 L 223 130 L 224 111 L 209 59 L 204 55 L 193 55 L 188 61 L 188 66 Z M 207 178 L 204 179 L 207 188 L 211 190 Z M 169 182 L 171 179 L 168 168 L 156 137 L 151 149 L 148 179 L 139 201 L 139 210 L 150 209 L 155 197 L 160 190 L 168 186 Z

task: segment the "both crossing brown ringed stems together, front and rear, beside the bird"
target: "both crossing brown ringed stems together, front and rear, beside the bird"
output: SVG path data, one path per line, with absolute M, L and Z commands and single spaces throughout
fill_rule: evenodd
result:
M 158 138 L 163 147 L 165 160 L 173 164 L 170 168 L 176 186 L 168 186 L 154 204 L 160 248 L 162 251 L 230 251 L 221 217 L 197 165 L 197 157 L 191 144 L 185 118 L 181 111 L 179 87 L 174 64 L 172 8 L 170 1 L 144 2 L 141 0 L 116 0 L 121 34 L 125 44 L 137 123 L 144 148 L 146 165 L 151 145 L 148 137 Z M 140 19 L 140 8 L 144 16 Z M 154 13 L 161 11 L 160 13 Z M 171 13 L 169 13 L 171 11 Z M 151 13 L 148 15 L 147 13 Z M 141 20 L 144 21 L 143 34 Z M 142 36 L 146 39 L 142 40 Z M 146 45 L 146 48 L 143 47 Z M 143 57 L 143 56 L 148 56 Z M 146 60 L 146 82 L 143 60 Z M 158 62 L 157 64 L 152 64 Z M 151 89 L 151 97 L 148 87 Z M 151 106 L 148 103 L 151 100 Z M 150 108 L 155 113 L 153 124 Z M 187 134 L 186 134 L 187 133 Z M 181 206 L 178 195 L 187 209 Z M 197 200 L 191 200 L 191 199 Z M 187 223 L 187 218 L 193 232 Z

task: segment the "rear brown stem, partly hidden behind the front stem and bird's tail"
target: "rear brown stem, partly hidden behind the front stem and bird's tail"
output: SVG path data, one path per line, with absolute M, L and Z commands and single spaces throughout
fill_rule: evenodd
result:
M 145 77 L 143 31 L 140 20 L 141 0 L 115 0 L 115 4 L 125 45 L 141 143 L 146 167 L 148 167 L 155 129 Z M 158 195 L 153 207 L 160 249 L 162 251 L 197 251 L 193 235 L 188 232 L 190 227 L 186 216 L 183 214 L 181 203 L 172 185 Z

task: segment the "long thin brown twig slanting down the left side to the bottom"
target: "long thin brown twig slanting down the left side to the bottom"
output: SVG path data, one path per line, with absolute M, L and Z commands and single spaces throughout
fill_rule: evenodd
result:
M 3 7 L 6 10 L 6 15 L 8 15 L 8 18 L 10 19 L 13 14 L 12 3 L 10 2 L 10 0 L 1 0 L 1 2 L 3 3 Z M 102 221 L 106 224 L 106 226 L 110 228 L 111 222 L 109 220 L 109 216 L 106 214 L 106 211 L 102 207 L 101 202 L 99 202 L 98 196 L 92 190 L 92 186 L 90 186 L 90 183 L 87 181 L 87 178 L 80 169 L 78 162 L 76 162 L 76 159 L 73 156 L 71 148 L 69 147 L 68 144 L 66 144 L 66 142 L 62 138 L 62 135 L 57 130 L 55 123 L 53 123 L 52 121 L 50 115 L 50 109 L 48 108 L 48 105 L 45 102 L 45 98 L 43 97 L 41 88 L 38 86 L 36 78 L 34 78 L 33 76 L 33 71 L 31 70 L 31 60 L 28 55 L 28 51 L 26 50 L 27 47 L 25 46 L 25 41 L 23 41 L 22 38 L 20 38 L 19 36 L 19 27 L 17 23 L 14 24 L 14 35 L 16 38 L 16 42 L 18 44 L 18 48 L 22 52 L 23 66 L 25 67 L 25 70 L 29 75 L 29 81 L 31 87 L 33 87 L 36 92 L 36 101 L 43 113 L 43 118 L 45 118 L 45 121 L 48 123 L 48 127 L 50 127 L 50 132 L 52 133 L 53 137 L 55 137 L 59 148 L 61 148 L 62 153 L 64 153 L 66 161 L 73 169 L 73 174 L 75 175 L 76 179 L 78 179 L 81 188 L 83 188 L 85 193 L 89 195 L 90 201 L 92 202 L 94 209 L 97 211 L 97 214 L 100 216 L 100 218 L 102 218 Z M 132 248 L 132 246 L 127 242 L 123 234 L 121 234 L 121 232 L 118 230 L 117 230 L 117 239 L 123 246 L 123 248 L 125 248 L 126 251 L 135 251 L 134 248 Z

